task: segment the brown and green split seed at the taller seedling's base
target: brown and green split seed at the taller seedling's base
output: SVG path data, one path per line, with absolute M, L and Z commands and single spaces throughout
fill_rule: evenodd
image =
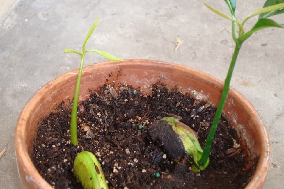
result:
M 198 142 L 196 133 L 178 119 L 163 117 L 161 120 L 156 120 L 148 128 L 148 134 L 172 158 L 180 159 L 187 154 L 192 157 L 194 162 L 192 166 L 193 172 L 199 172 L 199 170 L 204 170 L 208 166 L 209 159 L 202 166 L 198 163 L 203 150 Z

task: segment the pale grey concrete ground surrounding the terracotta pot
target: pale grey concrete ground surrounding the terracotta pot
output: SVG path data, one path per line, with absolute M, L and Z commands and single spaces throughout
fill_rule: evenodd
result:
M 239 1 L 236 15 L 244 19 L 264 1 Z M 210 4 L 229 14 L 223 1 Z M 231 23 L 199 0 L 19 0 L 0 18 L 0 151 L 8 144 L 0 159 L 0 188 L 20 188 L 13 136 L 21 109 L 42 85 L 79 67 L 79 56 L 64 54 L 63 49 L 80 51 L 98 16 L 89 47 L 121 58 L 179 63 L 225 78 L 234 47 Z M 284 22 L 283 16 L 276 19 Z M 284 187 L 283 34 L 278 28 L 253 34 L 243 44 L 232 79 L 232 86 L 251 101 L 269 131 L 273 165 L 266 189 Z M 177 38 L 184 44 L 175 52 Z M 85 65 L 103 60 L 88 54 Z

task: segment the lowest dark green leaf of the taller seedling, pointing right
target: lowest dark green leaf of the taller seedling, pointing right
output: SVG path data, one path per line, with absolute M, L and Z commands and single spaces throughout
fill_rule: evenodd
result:
M 255 31 L 258 31 L 262 28 L 267 28 L 267 27 L 277 27 L 277 28 L 284 28 L 284 24 L 278 24 L 274 20 L 267 19 L 267 18 L 261 18 L 259 19 L 256 24 L 251 28 L 250 31 L 245 33 L 244 35 L 239 37 L 239 40 L 245 41 L 247 38 L 249 38 Z

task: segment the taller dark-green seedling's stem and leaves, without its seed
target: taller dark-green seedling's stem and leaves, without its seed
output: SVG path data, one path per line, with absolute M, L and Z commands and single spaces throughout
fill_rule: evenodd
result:
M 247 40 L 255 31 L 258 31 L 260 29 L 267 28 L 267 27 L 284 28 L 284 24 L 279 24 L 272 19 L 268 19 L 268 17 L 272 15 L 284 13 L 284 0 L 267 0 L 263 8 L 253 12 L 246 19 L 244 19 L 243 22 L 239 22 L 239 20 L 235 16 L 236 0 L 224 0 L 224 1 L 226 2 L 226 4 L 228 5 L 230 9 L 231 17 L 229 17 L 228 15 L 220 12 L 219 10 L 216 10 L 215 8 L 203 2 L 204 5 L 210 10 L 212 10 L 214 13 L 232 22 L 232 38 L 235 41 L 235 50 L 232 56 L 232 60 L 231 60 L 230 67 L 227 73 L 227 77 L 225 79 L 219 105 L 217 107 L 216 114 L 215 114 L 214 120 L 212 122 L 212 126 L 210 128 L 210 131 L 209 131 L 206 143 L 205 143 L 202 157 L 200 160 L 198 160 L 198 163 L 200 165 L 205 165 L 208 160 L 208 157 L 211 151 L 211 145 L 213 142 L 213 138 L 214 138 L 221 114 L 222 114 L 224 104 L 228 96 L 228 92 L 230 88 L 230 81 L 232 78 L 232 73 L 235 67 L 237 56 L 239 54 L 239 51 L 242 47 L 243 42 Z M 249 31 L 245 32 L 244 24 L 246 23 L 246 21 L 257 15 L 259 15 L 259 17 L 256 23 L 254 24 L 254 26 Z M 238 27 L 238 31 L 237 31 L 238 36 L 236 35 L 236 30 L 235 30 L 236 25 Z

